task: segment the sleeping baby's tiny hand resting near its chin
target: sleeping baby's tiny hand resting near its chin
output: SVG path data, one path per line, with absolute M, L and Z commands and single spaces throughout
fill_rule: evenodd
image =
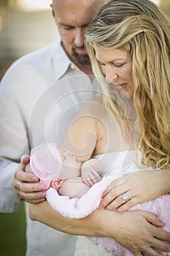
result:
M 101 177 L 98 175 L 96 170 L 89 167 L 82 167 L 82 181 L 88 185 L 89 187 L 92 187 L 93 184 L 96 184 L 98 181 L 101 180 Z

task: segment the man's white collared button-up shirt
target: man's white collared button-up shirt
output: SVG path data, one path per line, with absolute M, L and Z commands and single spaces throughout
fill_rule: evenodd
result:
M 0 86 L 0 211 L 13 212 L 20 199 L 12 186 L 23 154 L 39 143 L 60 146 L 66 127 L 97 86 L 68 58 L 61 39 L 15 61 Z M 27 215 L 27 256 L 71 256 L 77 236 L 53 230 Z

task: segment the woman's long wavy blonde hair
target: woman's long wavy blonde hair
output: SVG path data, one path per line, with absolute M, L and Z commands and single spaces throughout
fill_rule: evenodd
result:
M 85 32 L 93 72 L 101 86 L 104 105 L 121 121 L 117 105 L 107 97 L 109 86 L 93 45 L 129 51 L 134 79 L 134 105 L 139 150 L 147 167 L 170 165 L 170 23 L 150 0 L 112 0 L 98 12 Z M 115 92 L 116 93 L 116 92 Z

